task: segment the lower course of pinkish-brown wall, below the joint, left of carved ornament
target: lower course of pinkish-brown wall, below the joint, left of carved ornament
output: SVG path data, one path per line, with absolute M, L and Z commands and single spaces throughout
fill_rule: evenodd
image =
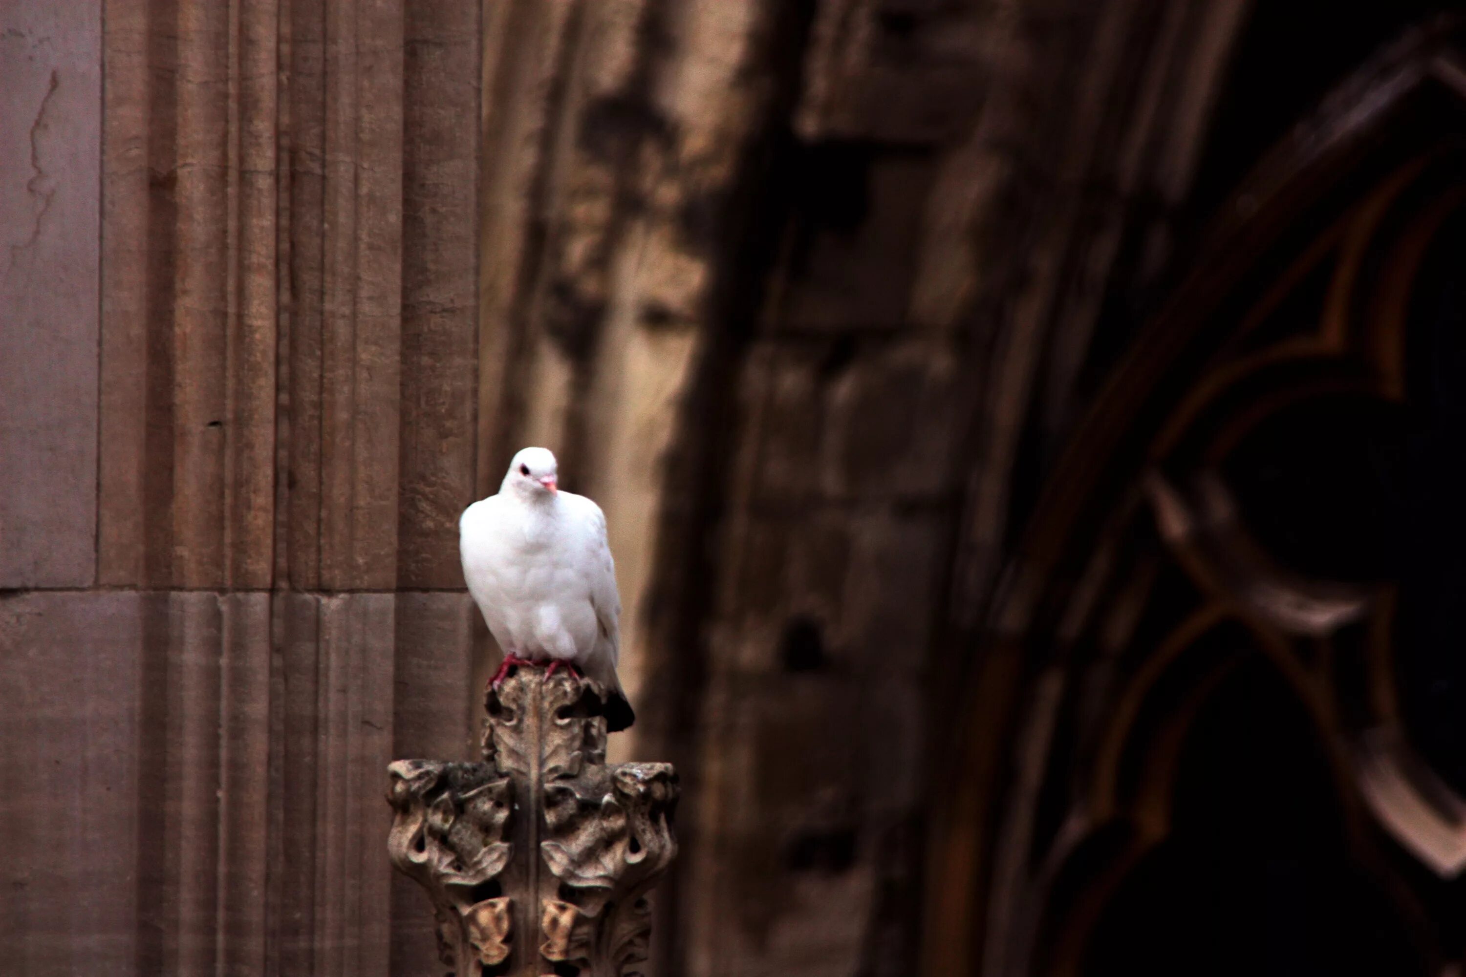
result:
M 6 751 L 19 790 L 0 806 L 26 839 L 0 913 L 18 973 L 416 959 L 421 905 L 393 911 L 366 850 L 394 702 L 403 746 L 475 748 L 466 611 L 457 593 L 0 599 L 0 735 L 31 744 Z

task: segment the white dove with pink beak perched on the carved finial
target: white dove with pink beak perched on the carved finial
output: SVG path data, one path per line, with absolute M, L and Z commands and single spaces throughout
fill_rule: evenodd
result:
M 616 677 L 622 599 L 605 514 L 583 495 L 559 491 L 556 469 L 547 448 L 525 448 L 498 495 L 463 510 L 463 579 L 504 650 L 494 684 L 515 665 L 548 661 L 550 675 L 579 666 L 610 691 L 605 721 L 616 732 L 636 716 Z

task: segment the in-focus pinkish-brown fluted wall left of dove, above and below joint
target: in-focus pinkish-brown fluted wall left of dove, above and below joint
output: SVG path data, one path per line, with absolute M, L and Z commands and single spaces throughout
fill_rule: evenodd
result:
M 381 778 L 474 738 L 478 12 L 4 18 L 0 942 L 421 973 Z

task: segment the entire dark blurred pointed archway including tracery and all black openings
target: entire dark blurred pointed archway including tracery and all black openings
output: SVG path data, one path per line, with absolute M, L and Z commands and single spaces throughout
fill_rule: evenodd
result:
M 1459 959 L 1457 520 L 1429 501 L 1459 478 L 1453 31 L 1409 31 L 1264 160 L 1057 466 L 934 850 L 932 904 L 968 891 L 981 918 L 931 917 L 931 945 L 972 940 L 963 973 Z M 1262 672 L 1293 699 L 1277 718 Z M 1229 694 L 1233 728 L 1209 728 Z M 1208 776 L 1230 792 L 1198 800 Z M 1289 885 L 1292 908 L 1258 908 Z

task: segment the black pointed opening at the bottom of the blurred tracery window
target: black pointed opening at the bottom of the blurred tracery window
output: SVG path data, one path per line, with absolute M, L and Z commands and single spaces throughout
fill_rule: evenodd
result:
M 1324 748 L 1261 655 L 1202 709 L 1179 770 L 1176 831 L 1105 908 L 1086 977 L 1425 974 L 1350 861 Z

